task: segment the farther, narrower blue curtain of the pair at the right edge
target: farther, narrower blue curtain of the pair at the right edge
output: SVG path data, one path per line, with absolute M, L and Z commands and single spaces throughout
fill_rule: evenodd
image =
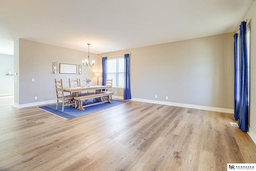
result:
M 239 56 L 238 56 L 238 34 L 234 34 L 234 118 L 239 119 Z

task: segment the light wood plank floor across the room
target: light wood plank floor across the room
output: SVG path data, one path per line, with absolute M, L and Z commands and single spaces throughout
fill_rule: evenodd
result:
M 71 120 L 0 97 L 0 170 L 226 171 L 256 163 L 232 114 L 129 101 Z

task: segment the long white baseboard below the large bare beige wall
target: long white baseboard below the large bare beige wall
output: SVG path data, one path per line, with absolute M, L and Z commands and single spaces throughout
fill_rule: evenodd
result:
M 147 100 L 147 99 L 137 99 L 137 98 L 132 98 L 131 100 L 133 100 L 133 101 L 142 101 L 142 102 L 147 102 L 147 103 L 156 103 L 156 104 L 162 104 L 162 105 L 187 107 L 187 108 L 193 108 L 193 109 L 218 111 L 218 112 L 223 112 L 223 113 L 234 113 L 234 109 L 226 109 L 226 108 L 220 108 L 220 107 L 190 105 L 190 104 L 184 104 L 184 103 L 172 103 L 172 102 L 168 102 L 168 101 L 157 101 L 157 100 Z

